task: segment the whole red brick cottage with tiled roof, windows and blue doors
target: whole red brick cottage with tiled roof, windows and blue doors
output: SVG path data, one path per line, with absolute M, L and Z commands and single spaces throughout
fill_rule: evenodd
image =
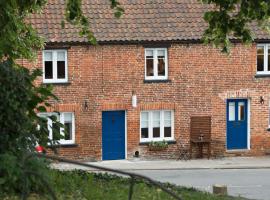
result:
M 83 2 L 99 45 L 68 23 L 62 28 L 65 1 L 50 0 L 29 20 L 45 50 L 34 64 L 22 61 L 43 70 L 40 84 L 54 85 L 59 101 L 40 116 L 57 115 L 66 125 L 62 156 L 177 158 L 190 147 L 193 116 L 211 117 L 212 157 L 269 153 L 267 33 L 253 27 L 256 42 L 236 41 L 227 55 L 202 44 L 208 7 L 197 0 L 122 0 L 120 19 L 107 0 Z M 163 140 L 167 148 L 149 150 Z

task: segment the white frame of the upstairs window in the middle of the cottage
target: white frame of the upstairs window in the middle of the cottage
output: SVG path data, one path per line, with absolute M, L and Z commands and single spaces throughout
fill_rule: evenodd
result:
M 153 51 L 153 57 L 154 57 L 154 76 L 147 76 L 147 66 L 146 66 L 146 51 L 151 50 Z M 165 76 L 159 76 L 158 75 L 158 58 L 157 58 L 157 52 L 159 50 L 165 51 Z M 145 80 L 166 80 L 168 79 L 168 50 L 167 48 L 145 48 L 144 51 L 144 74 L 145 74 Z

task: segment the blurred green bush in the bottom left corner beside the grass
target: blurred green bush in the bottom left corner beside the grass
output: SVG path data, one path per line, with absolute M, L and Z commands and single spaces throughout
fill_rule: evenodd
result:
M 0 194 L 20 194 L 27 198 L 30 192 L 44 194 L 48 191 L 48 164 L 43 159 L 12 153 L 0 154 Z M 1 198 L 1 195 L 0 195 Z

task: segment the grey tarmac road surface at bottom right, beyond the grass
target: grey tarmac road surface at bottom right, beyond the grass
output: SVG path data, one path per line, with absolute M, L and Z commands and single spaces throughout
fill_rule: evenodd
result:
M 270 169 L 136 170 L 161 182 L 212 192 L 212 185 L 227 185 L 232 196 L 270 200 Z

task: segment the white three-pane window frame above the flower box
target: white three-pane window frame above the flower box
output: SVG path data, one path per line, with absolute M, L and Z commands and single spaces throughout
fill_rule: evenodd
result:
M 171 112 L 171 137 L 164 137 L 164 112 Z M 153 137 L 153 112 L 160 112 L 160 137 Z M 142 138 L 142 113 L 148 113 L 148 138 Z M 144 110 L 140 113 L 140 142 L 174 140 L 174 111 L 173 110 Z

